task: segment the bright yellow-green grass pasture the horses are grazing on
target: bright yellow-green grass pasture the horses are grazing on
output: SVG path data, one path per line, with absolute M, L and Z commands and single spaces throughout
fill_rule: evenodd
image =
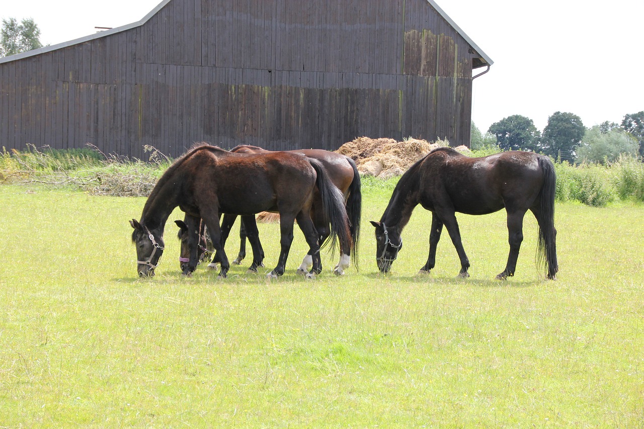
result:
M 388 276 L 368 220 L 359 271 L 325 254 L 313 281 L 232 267 L 180 276 L 178 240 L 139 280 L 128 220 L 144 198 L 0 186 L 0 427 L 644 427 L 644 207 L 559 204 L 558 280 L 535 267 L 526 216 L 516 276 L 504 213 L 459 216 L 418 275 L 417 209 Z M 278 228 L 260 225 L 267 270 Z M 231 239 L 229 256 L 236 254 Z M 336 253 L 337 256 L 337 253 Z

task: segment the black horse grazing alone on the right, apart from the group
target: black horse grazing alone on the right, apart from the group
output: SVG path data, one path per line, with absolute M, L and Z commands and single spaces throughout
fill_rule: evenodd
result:
M 510 252 L 498 280 L 515 274 L 523 219 L 530 210 L 539 227 L 537 253 L 547 261 L 546 276 L 555 278 L 559 267 L 554 228 L 555 176 L 551 160 L 533 152 L 509 151 L 471 158 L 451 148 L 433 149 L 401 176 L 380 222 L 375 227 L 376 262 L 387 272 L 403 247 L 401 232 L 421 204 L 431 211 L 430 255 L 421 272 L 435 264 L 436 246 L 443 225 L 460 258 L 460 276 L 469 277 L 469 260 L 460 240 L 455 212 L 489 214 L 505 207 Z M 545 264 L 544 264 L 545 265 Z

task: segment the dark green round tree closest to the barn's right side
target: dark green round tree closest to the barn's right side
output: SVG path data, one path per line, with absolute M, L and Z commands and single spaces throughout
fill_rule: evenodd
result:
M 522 115 L 512 115 L 492 124 L 488 133 L 497 138 L 499 148 L 534 151 L 538 148 L 539 130 L 535 123 Z

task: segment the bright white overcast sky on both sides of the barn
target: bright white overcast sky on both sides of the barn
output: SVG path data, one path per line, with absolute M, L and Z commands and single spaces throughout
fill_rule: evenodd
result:
M 435 1 L 494 62 L 473 81 L 472 120 L 482 132 L 511 115 L 543 131 L 556 111 L 591 127 L 644 110 L 643 0 Z M 159 3 L 2 0 L 0 18 L 33 18 L 41 42 L 57 44 L 139 21 Z

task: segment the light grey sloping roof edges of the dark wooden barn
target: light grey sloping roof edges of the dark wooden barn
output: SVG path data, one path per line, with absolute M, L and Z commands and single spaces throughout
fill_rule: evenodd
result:
M 172 0 L 163 0 L 161 3 L 156 5 L 156 7 L 153 10 L 151 10 L 146 16 L 144 16 L 139 21 L 136 21 L 135 23 L 126 24 L 126 25 L 116 27 L 116 28 L 111 28 L 110 30 L 105 30 L 105 31 L 98 32 L 98 33 L 95 33 L 95 34 L 90 34 L 90 35 L 80 37 L 79 39 L 74 39 L 74 40 L 71 40 L 71 41 L 68 41 L 68 42 L 57 43 L 57 44 L 53 44 L 53 45 L 50 45 L 50 46 L 44 46 L 43 48 L 34 49 L 34 50 L 27 51 L 27 52 L 16 53 L 15 55 L 9 55 L 8 57 L 1 57 L 0 58 L 0 64 L 3 63 L 3 62 L 9 62 L 9 61 L 14 61 L 14 60 L 18 60 L 18 59 L 22 59 L 22 58 L 26 58 L 26 57 L 32 57 L 33 55 L 39 55 L 41 53 L 46 53 L 46 52 L 50 52 L 50 51 L 53 51 L 53 50 L 66 48 L 68 46 L 73 46 L 75 44 L 80 44 L 80 43 L 84 43 L 84 42 L 87 42 L 87 41 L 90 41 L 90 40 L 93 40 L 93 39 L 98 39 L 99 37 L 105 37 L 105 36 L 108 36 L 110 34 L 114 34 L 114 33 L 118 33 L 118 32 L 124 32 L 126 30 L 130 30 L 131 28 L 136 28 L 138 26 L 141 26 L 141 25 L 145 24 L 147 22 L 147 20 L 149 20 L 151 17 L 153 17 L 156 14 L 156 12 L 158 12 L 164 6 L 166 6 L 168 3 L 170 3 L 170 1 L 172 1 Z M 426 1 L 445 19 L 445 21 L 447 21 L 454 28 L 454 30 L 456 30 L 461 35 L 461 37 L 463 37 L 463 39 L 465 39 L 467 41 L 469 46 L 471 46 L 471 48 L 473 50 L 473 53 L 478 53 L 478 61 L 475 59 L 475 62 L 473 64 L 473 68 L 478 68 L 478 67 L 483 67 L 483 66 L 491 66 L 492 64 L 494 64 L 494 61 L 492 61 L 488 57 L 488 55 L 486 55 L 486 53 L 483 52 L 477 46 L 477 44 L 474 43 L 474 41 L 472 39 L 470 39 L 469 36 L 463 30 L 461 30 L 461 28 L 449 17 L 448 14 L 446 14 L 440 8 L 439 5 L 437 5 L 437 3 L 434 0 L 426 0 Z

